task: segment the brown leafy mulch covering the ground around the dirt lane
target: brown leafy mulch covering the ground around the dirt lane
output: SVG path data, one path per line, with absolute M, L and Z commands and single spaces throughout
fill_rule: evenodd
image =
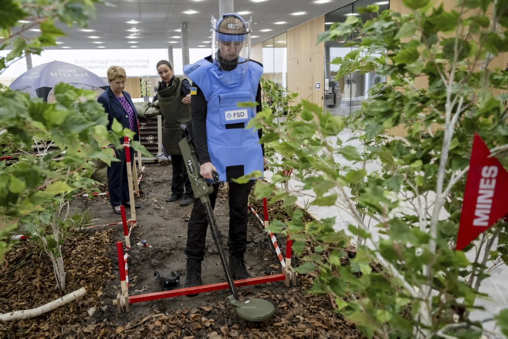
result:
M 219 198 L 224 194 L 220 191 Z M 281 202 L 277 202 L 269 206 L 270 220 L 275 216 L 285 219 L 280 205 Z M 253 207 L 263 218 L 262 202 L 254 202 Z M 259 221 L 251 224 L 249 227 L 259 227 L 262 232 Z M 37 318 L 0 322 L 0 337 L 363 337 L 354 324 L 335 313 L 329 297 L 306 292 L 312 287 L 312 275 L 298 277 L 296 287 L 285 288 L 281 282 L 276 282 L 238 289 L 241 298 L 263 298 L 274 304 L 275 314 L 266 322 L 252 323 L 238 318 L 222 299 L 204 300 L 199 307 L 185 308 L 183 303 L 176 311 L 174 308 L 165 310 L 164 304 L 158 303 L 129 320 L 125 320 L 124 315 L 107 316 L 114 310 L 111 300 L 104 298 L 107 295 L 105 286 L 118 279 L 113 275 L 115 267 L 107 253 L 112 238 L 115 238 L 113 231 L 106 230 L 77 232 L 67 239 L 62 246 L 67 293 L 85 287 L 87 294 Z M 277 234 L 277 242 L 284 252 L 285 236 Z M 270 247 L 263 250 L 265 243 L 271 246 L 269 240 L 259 242 L 259 253 L 266 255 L 268 251 L 268 255 L 272 255 Z M 7 253 L 6 261 L 7 265 L 0 270 L 0 313 L 36 308 L 61 296 L 54 288 L 51 261 L 35 242 L 18 243 Z M 293 263 L 297 262 L 298 258 L 293 258 Z M 273 266 L 276 271 L 277 265 Z M 92 316 L 90 309 L 96 310 Z

